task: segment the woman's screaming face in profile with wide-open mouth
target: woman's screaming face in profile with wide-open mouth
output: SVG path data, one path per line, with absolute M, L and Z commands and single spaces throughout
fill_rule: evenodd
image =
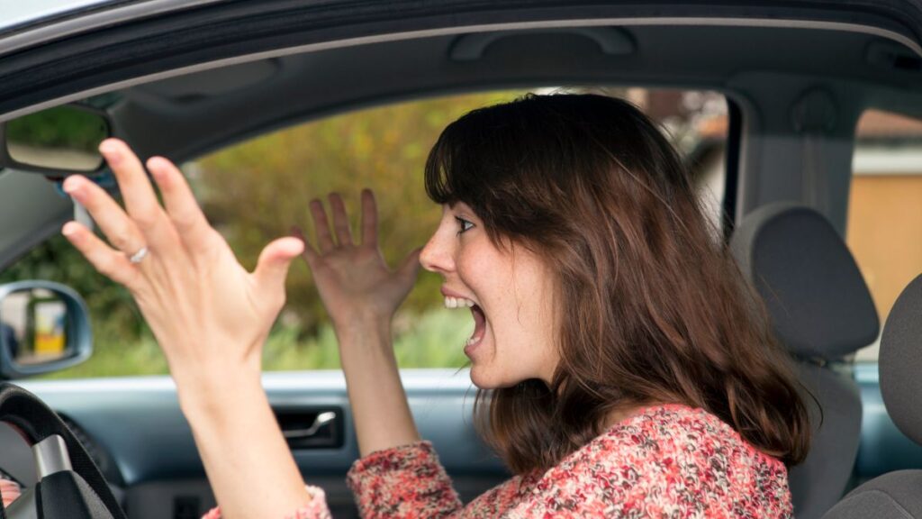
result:
M 444 278 L 445 306 L 469 311 L 474 332 L 465 345 L 471 380 L 481 389 L 526 379 L 550 383 L 554 346 L 552 279 L 525 247 L 496 247 L 464 203 L 443 206 L 442 221 L 422 249 L 422 266 Z

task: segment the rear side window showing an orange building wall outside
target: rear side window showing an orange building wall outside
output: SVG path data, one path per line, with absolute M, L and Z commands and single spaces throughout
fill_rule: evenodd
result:
M 868 283 L 881 326 L 922 272 L 922 120 L 868 110 L 858 121 L 845 241 Z M 876 362 L 879 344 L 858 352 Z

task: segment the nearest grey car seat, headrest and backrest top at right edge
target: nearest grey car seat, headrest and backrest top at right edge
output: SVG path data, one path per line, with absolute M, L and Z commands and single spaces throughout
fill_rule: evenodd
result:
M 922 275 L 904 288 L 883 327 L 881 396 L 887 413 L 910 440 L 922 444 Z M 922 517 L 922 470 L 897 470 L 852 490 L 823 519 Z

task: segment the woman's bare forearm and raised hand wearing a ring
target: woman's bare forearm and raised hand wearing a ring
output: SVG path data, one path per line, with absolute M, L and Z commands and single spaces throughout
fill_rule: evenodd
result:
M 282 517 L 311 500 L 260 378 L 262 345 L 285 304 L 285 276 L 301 240 L 278 239 L 246 272 L 208 225 L 170 161 L 144 166 L 124 142 L 100 145 L 122 190 L 123 210 L 99 186 L 70 176 L 112 247 L 76 222 L 63 233 L 97 270 L 135 296 L 170 364 L 211 487 L 228 517 Z M 114 248 L 113 248 L 114 247 Z M 241 477 L 245 474 L 247 477 Z

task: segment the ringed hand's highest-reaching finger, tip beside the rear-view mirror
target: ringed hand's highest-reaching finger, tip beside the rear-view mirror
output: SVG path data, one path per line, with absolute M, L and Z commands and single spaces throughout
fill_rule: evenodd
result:
M 154 187 L 150 185 L 135 152 L 122 140 L 105 139 L 100 144 L 100 153 L 118 181 L 125 210 L 147 237 L 148 246 L 160 250 L 171 248 L 174 245 L 171 243 L 171 230 L 164 226 L 166 213 L 160 207 Z

